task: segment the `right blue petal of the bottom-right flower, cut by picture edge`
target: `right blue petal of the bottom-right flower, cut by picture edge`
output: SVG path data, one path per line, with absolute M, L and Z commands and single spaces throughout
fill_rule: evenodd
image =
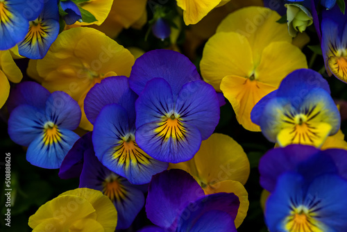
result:
M 307 190 L 306 204 L 314 199 L 316 215 L 320 222 L 330 228 L 329 231 L 346 231 L 347 181 L 337 175 L 323 175 L 312 181 Z

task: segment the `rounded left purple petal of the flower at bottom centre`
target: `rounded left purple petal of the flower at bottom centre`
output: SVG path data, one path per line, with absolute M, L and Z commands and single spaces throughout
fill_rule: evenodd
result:
M 180 212 L 204 195 L 200 185 L 183 170 L 170 169 L 155 174 L 146 199 L 147 217 L 157 226 L 176 229 Z

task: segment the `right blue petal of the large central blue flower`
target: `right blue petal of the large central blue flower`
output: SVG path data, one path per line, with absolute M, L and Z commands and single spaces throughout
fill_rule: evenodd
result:
M 192 81 L 183 85 L 178 94 L 175 112 L 183 122 L 195 126 L 206 140 L 219 122 L 219 101 L 212 85 Z

